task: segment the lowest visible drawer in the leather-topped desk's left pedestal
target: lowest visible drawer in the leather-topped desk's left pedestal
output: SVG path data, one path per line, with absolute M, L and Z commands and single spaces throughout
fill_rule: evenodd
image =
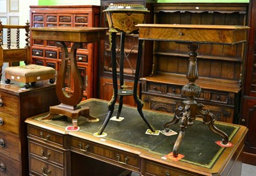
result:
M 29 156 L 29 170 L 31 175 L 52 175 L 52 176 L 63 176 L 65 175 L 64 168 L 60 168 L 53 164 L 44 162 L 41 159 Z

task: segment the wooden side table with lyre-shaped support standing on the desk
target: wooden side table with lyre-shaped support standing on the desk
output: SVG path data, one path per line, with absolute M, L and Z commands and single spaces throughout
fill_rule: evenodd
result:
M 83 82 L 76 62 L 76 51 L 82 47 L 83 43 L 92 43 L 104 40 L 107 28 L 74 28 L 74 27 L 43 27 L 30 28 L 33 39 L 56 41 L 56 45 L 61 48 L 61 68 L 58 72 L 56 82 L 56 93 L 61 104 L 51 106 L 49 115 L 42 120 L 49 120 L 56 115 L 68 116 L 72 119 L 72 124 L 77 126 L 77 118 L 85 116 L 89 122 L 97 122 L 98 119 L 90 115 L 90 108 L 77 106 L 83 99 Z M 65 42 L 74 42 L 70 49 L 70 58 L 68 58 L 68 49 Z M 65 76 L 67 66 L 70 62 L 71 76 L 73 78 L 74 92 L 68 95 L 65 91 Z

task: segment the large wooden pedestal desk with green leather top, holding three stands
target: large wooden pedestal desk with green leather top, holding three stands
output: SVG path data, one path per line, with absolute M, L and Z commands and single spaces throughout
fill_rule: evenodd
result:
M 215 143 L 220 137 L 201 125 L 202 120 L 194 120 L 195 125 L 186 130 L 180 154 L 185 157 L 172 161 L 164 156 L 172 151 L 177 135 L 145 134 L 147 125 L 131 106 L 122 109 L 122 122 L 109 121 L 104 138 L 93 133 L 99 131 L 108 113 L 108 101 L 88 99 L 81 106 L 90 107 L 90 113 L 99 122 L 88 123 L 79 116 L 79 131 L 66 131 L 72 120 L 56 116 L 49 120 L 39 120 L 42 115 L 26 120 L 28 123 L 29 171 L 31 175 L 108 175 L 104 168 L 124 168 L 141 175 L 240 175 L 241 153 L 247 129 L 241 125 L 216 122 L 225 131 L 233 147 L 221 148 Z M 118 105 L 115 105 L 115 113 Z M 163 129 L 170 114 L 159 111 L 144 111 L 156 129 Z M 172 127 L 179 131 L 179 125 Z M 203 133 L 203 134 L 202 134 Z M 204 142 L 193 136 L 204 138 Z M 88 161 L 85 162 L 84 161 Z M 96 163 L 96 164 L 93 164 Z M 108 164 L 109 166 L 106 166 Z M 106 167 L 104 167 L 106 166 Z M 109 175 L 118 175 L 113 170 Z

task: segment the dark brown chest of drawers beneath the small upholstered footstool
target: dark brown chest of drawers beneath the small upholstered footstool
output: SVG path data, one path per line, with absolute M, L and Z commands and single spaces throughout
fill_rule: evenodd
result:
M 48 81 L 47 81 L 48 82 Z M 28 175 L 26 118 L 59 104 L 55 85 L 45 81 L 21 90 L 23 83 L 0 84 L 0 175 Z

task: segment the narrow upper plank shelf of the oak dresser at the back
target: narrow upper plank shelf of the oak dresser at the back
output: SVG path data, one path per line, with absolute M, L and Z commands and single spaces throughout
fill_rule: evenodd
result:
M 180 56 L 180 57 L 185 57 L 189 58 L 188 53 L 175 53 L 175 52 L 155 52 L 154 54 L 156 55 L 164 55 L 164 56 Z M 229 57 L 221 57 L 221 56 L 207 56 L 207 55 L 202 55 L 199 54 L 196 56 L 196 58 L 200 59 L 206 59 L 206 60 L 225 60 L 225 61 L 239 61 L 241 62 L 241 58 L 229 58 Z

